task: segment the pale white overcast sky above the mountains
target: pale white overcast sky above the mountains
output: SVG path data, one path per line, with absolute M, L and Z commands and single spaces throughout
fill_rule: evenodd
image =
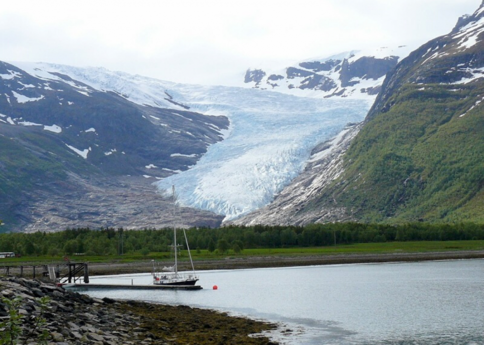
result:
M 418 47 L 481 0 L 2 1 L 2 61 L 96 66 L 227 84 L 251 67 Z

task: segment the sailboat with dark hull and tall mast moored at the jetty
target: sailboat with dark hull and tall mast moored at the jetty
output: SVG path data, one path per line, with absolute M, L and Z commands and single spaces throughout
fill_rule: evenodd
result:
M 191 272 L 178 272 L 178 247 L 181 245 L 176 242 L 176 227 L 174 220 L 176 219 L 176 194 L 175 186 L 171 187 L 171 192 L 173 194 L 173 245 L 171 246 L 174 251 L 175 262 L 171 267 L 164 267 L 161 272 L 155 267 L 155 262 L 153 262 L 153 284 L 155 285 L 188 285 L 193 286 L 199 280 L 199 277 L 195 274 L 195 268 L 193 266 L 192 254 L 190 253 L 190 247 L 188 245 L 187 234 L 185 229 L 183 229 L 183 235 L 185 236 L 185 242 L 187 244 L 188 256 L 190 257 L 190 264 L 192 265 Z

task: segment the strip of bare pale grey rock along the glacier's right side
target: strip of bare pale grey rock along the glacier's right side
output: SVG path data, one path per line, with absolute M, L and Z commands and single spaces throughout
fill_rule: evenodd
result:
M 342 156 L 362 124 L 347 127 L 339 136 L 320 144 L 301 175 L 266 207 L 249 213 L 234 224 L 304 225 L 350 220 L 347 210 L 334 203 L 318 207 L 315 200 L 343 172 Z M 313 206 L 314 205 L 314 206 Z

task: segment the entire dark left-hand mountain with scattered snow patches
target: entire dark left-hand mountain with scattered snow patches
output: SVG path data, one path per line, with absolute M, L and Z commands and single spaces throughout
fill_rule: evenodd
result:
M 22 67 L 0 62 L 1 230 L 171 225 L 147 187 L 194 165 L 228 118 L 191 112 L 166 89 L 143 103 L 55 66 Z M 220 224 L 189 215 L 187 225 Z

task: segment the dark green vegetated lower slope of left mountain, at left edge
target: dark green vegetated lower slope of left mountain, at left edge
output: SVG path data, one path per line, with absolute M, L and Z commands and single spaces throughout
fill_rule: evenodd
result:
M 62 150 L 55 136 L 21 129 L 13 127 L 11 133 L 0 134 L 0 213 L 5 223 L 0 232 L 25 221 L 25 214 L 29 214 L 25 205 L 41 192 L 60 188 L 70 170 L 94 170 L 75 154 Z

